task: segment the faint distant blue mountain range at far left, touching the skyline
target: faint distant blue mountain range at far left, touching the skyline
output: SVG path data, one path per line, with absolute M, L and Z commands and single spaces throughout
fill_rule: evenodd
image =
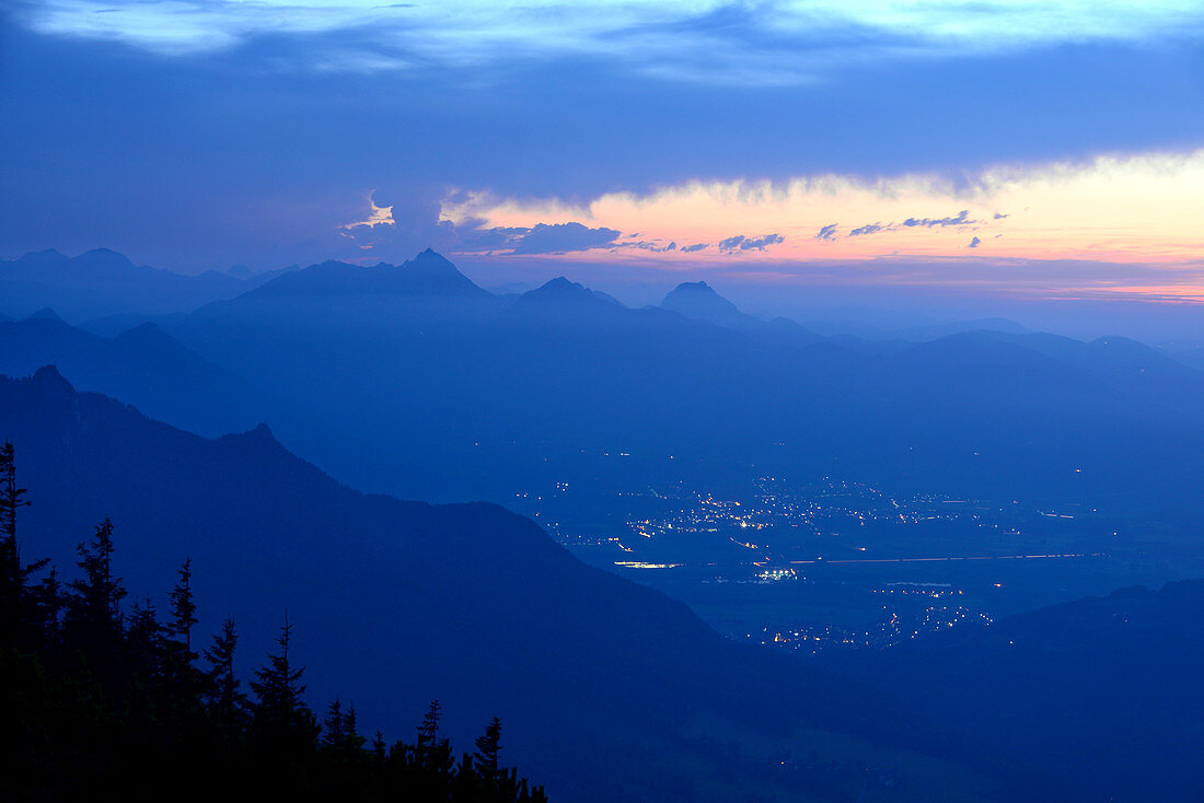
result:
M 14 315 L 48 306 L 71 320 L 119 313 L 166 314 L 234 297 L 268 278 L 271 274 L 240 279 L 216 271 L 184 276 L 135 265 L 107 248 L 73 258 L 49 249 L 0 261 L 0 303 Z

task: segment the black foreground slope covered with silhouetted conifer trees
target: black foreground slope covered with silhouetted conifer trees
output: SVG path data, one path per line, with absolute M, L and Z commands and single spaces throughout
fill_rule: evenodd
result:
M 78 575 L 64 584 L 47 560 L 23 563 L 17 524 L 29 501 L 11 443 L 0 447 L 0 705 L 6 801 L 545 803 L 500 763 L 494 719 L 459 761 L 431 703 L 413 742 L 360 736 L 354 704 L 330 703 L 319 726 L 305 701 L 305 668 L 277 649 L 248 695 L 235 672 L 238 633 L 226 619 L 200 642 L 191 561 L 178 569 L 159 616 L 150 596 L 125 604 L 108 519 L 81 543 Z M 201 656 L 203 655 L 203 662 Z

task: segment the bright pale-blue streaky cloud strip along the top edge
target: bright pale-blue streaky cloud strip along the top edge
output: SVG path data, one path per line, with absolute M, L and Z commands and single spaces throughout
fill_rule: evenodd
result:
M 294 69 L 480 67 L 568 55 L 661 78 L 745 85 L 799 83 L 866 60 L 1190 37 L 1204 24 L 1196 0 L 810 0 L 752 7 L 730 0 L 461 0 L 454 7 L 378 0 L 18 5 L 20 22 L 39 33 L 118 41 L 167 55 L 230 51 L 272 36 L 323 45 L 324 52 L 297 59 Z

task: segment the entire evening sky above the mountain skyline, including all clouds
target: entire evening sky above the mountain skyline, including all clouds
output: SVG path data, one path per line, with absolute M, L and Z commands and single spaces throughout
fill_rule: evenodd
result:
M 1198 0 L 2 13 L 5 258 L 1204 301 Z

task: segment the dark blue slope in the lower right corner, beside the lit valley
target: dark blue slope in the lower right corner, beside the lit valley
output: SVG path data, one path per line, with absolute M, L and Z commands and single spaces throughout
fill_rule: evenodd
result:
M 1204 580 L 1122 589 L 849 663 L 870 683 L 1049 769 L 1066 799 L 1204 793 Z

